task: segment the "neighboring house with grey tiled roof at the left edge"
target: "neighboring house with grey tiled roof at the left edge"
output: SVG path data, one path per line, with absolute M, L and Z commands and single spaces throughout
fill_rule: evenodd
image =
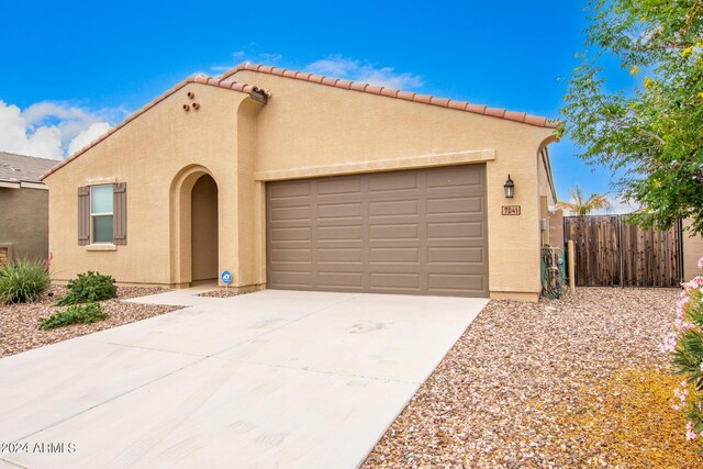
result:
M 0 265 L 48 255 L 48 188 L 55 159 L 0 152 Z

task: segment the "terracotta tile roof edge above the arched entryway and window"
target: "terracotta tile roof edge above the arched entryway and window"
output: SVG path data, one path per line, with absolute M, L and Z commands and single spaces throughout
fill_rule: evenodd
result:
M 68 165 L 70 161 L 72 161 L 74 159 L 78 158 L 80 155 L 82 155 L 83 153 L 88 152 L 90 148 L 92 148 L 93 146 L 98 145 L 100 142 L 102 142 L 103 139 L 108 138 L 110 135 L 114 134 L 120 129 L 124 127 L 126 124 L 129 124 L 130 122 L 134 121 L 136 118 L 138 118 L 142 114 L 144 114 L 146 111 L 150 110 L 156 104 L 158 104 L 159 102 L 164 101 L 166 98 L 170 97 L 176 91 L 180 90 L 181 88 L 186 87 L 189 83 L 200 83 L 200 85 L 207 85 L 207 86 L 211 86 L 211 87 L 223 88 L 225 90 L 239 91 L 239 92 L 247 93 L 247 94 L 250 94 L 250 96 L 255 97 L 255 99 L 257 101 L 261 101 L 261 98 L 260 98 L 261 96 L 264 96 L 264 97 L 268 96 L 268 93 L 265 90 L 261 90 L 258 87 L 255 87 L 253 85 L 242 83 L 242 82 L 234 81 L 234 80 L 226 80 L 226 79 L 222 79 L 222 78 L 205 77 L 204 75 L 197 75 L 197 76 L 193 76 L 193 77 L 188 77 L 183 81 L 181 81 L 178 85 L 176 85 L 174 88 L 171 88 L 168 91 L 166 91 L 164 94 L 159 96 L 158 98 L 154 99 L 153 101 L 150 101 L 149 103 L 144 105 L 138 111 L 136 111 L 133 114 L 129 115 L 124 121 L 122 121 L 121 123 L 119 123 L 114 127 L 110 129 L 105 134 L 103 134 L 99 138 L 92 141 L 91 143 L 89 143 L 88 145 L 86 145 L 85 147 L 79 149 L 78 152 L 76 152 L 72 155 L 70 155 L 68 158 L 66 158 L 63 161 L 60 161 L 55 167 L 53 167 L 49 170 L 47 170 L 46 172 L 44 172 L 41 176 L 40 179 L 44 180 L 49 175 L 58 171 L 60 168 L 63 168 L 64 166 Z

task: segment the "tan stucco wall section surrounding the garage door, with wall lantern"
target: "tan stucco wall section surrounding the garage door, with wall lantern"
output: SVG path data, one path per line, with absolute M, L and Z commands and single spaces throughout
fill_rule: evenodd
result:
M 333 165 L 339 172 L 395 168 L 398 159 L 432 166 L 466 152 L 476 155 L 461 163 L 479 163 L 480 150 L 494 150 L 487 161 L 490 290 L 539 291 L 538 150 L 551 130 L 249 70 L 233 78 L 272 93 L 257 119 L 260 180 L 332 174 Z M 503 194 L 507 174 L 512 200 Z M 504 204 L 521 205 L 522 215 L 501 215 Z

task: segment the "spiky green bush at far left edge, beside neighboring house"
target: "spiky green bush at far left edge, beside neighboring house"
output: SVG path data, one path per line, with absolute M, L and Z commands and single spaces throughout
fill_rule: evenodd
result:
M 27 303 L 46 293 L 48 270 L 41 260 L 18 260 L 0 268 L 0 304 Z

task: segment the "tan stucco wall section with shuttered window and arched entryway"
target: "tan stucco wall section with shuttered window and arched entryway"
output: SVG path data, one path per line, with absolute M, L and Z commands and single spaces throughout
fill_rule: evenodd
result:
M 196 93 L 200 110 L 181 109 L 189 102 L 188 91 Z M 178 199 L 174 181 L 189 171 L 183 168 L 205 168 L 216 181 L 220 266 L 236 265 L 237 110 L 247 99 L 245 93 L 188 85 L 48 176 L 55 278 L 65 280 L 92 269 L 126 283 L 189 282 L 190 202 L 183 202 L 182 217 L 172 206 Z M 192 187 L 198 176 L 185 183 Z M 77 188 L 114 181 L 127 183 L 126 246 L 112 252 L 79 246 Z M 180 224 L 188 226 L 179 230 Z

